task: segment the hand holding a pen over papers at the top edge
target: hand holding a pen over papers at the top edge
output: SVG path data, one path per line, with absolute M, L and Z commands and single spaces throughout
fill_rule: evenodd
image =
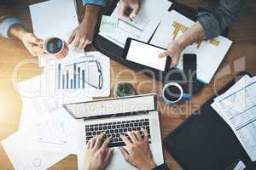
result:
M 117 8 L 119 16 L 135 18 L 141 8 L 141 0 L 120 0 Z

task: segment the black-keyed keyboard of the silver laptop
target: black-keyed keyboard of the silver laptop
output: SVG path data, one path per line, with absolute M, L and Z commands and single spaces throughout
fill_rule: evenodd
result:
M 86 136 L 86 144 L 89 140 L 103 132 L 106 133 L 104 140 L 108 137 L 112 136 L 108 147 L 118 147 L 124 146 L 125 143 L 121 139 L 120 135 L 126 135 L 125 133 L 131 131 L 138 131 L 142 134 L 142 128 L 148 131 L 148 142 L 150 143 L 150 130 L 149 130 L 149 121 L 148 119 L 137 119 L 131 121 L 122 121 L 122 122 L 108 122 L 108 123 L 99 123 L 99 124 L 91 124 L 85 126 L 85 136 Z M 128 139 L 130 139 L 128 137 Z

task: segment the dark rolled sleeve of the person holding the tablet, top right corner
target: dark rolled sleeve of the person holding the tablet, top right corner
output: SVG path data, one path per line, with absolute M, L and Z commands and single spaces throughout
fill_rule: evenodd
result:
M 199 9 L 197 21 L 204 28 L 206 37 L 218 37 L 231 26 L 241 13 L 243 3 L 242 0 L 219 0 L 215 8 Z

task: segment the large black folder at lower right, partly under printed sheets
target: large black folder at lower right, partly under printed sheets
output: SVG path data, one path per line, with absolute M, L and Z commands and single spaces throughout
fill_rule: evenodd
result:
M 240 77 L 229 82 L 218 94 L 223 94 Z M 256 169 L 235 133 L 221 116 L 212 109 L 212 96 L 198 111 L 189 116 L 165 139 L 166 150 L 185 170 L 230 170 L 242 161 L 247 169 Z

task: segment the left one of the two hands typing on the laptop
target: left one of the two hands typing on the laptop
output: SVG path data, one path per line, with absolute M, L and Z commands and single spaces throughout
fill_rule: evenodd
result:
M 85 170 L 103 170 L 108 166 L 113 150 L 108 150 L 111 138 L 106 139 L 102 144 L 105 133 L 90 139 L 86 144 Z

